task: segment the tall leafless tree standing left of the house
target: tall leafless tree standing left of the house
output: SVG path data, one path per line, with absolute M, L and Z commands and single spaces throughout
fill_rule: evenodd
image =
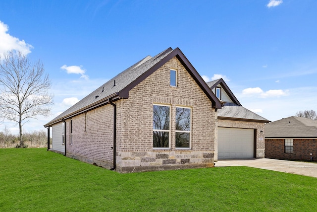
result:
M 19 125 L 19 147 L 24 147 L 22 127 L 28 119 L 51 113 L 51 81 L 44 71 L 43 63 L 32 63 L 20 51 L 0 57 L 0 117 Z

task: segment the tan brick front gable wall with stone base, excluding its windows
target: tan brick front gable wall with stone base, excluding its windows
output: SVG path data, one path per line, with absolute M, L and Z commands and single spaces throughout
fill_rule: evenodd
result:
M 170 69 L 177 70 L 177 87 L 170 86 Z M 170 105 L 171 146 L 153 149 L 153 104 Z M 120 172 L 213 166 L 215 112 L 211 101 L 176 59 L 117 102 L 117 169 Z M 192 148 L 175 148 L 176 106 L 192 109 Z

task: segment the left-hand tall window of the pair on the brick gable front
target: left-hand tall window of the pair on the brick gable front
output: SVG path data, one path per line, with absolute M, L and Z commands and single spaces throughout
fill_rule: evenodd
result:
M 153 105 L 153 148 L 169 148 L 170 107 Z

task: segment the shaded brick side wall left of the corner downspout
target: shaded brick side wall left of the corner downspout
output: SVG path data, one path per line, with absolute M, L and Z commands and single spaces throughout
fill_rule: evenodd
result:
M 85 118 L 86 116 L 86 118 Z M 86 119 L 86 131 L 85 131 Z M 70 119 L 67 125 L 66 155 L 105 168 L 111 167 L 113 146 L 113 106 L 106 105 L 72 118 L 73 143 L 70 142 Z

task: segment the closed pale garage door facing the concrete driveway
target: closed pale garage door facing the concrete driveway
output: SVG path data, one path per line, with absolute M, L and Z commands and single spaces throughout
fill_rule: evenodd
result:
M 254 130 L 218 127 L 218 159 L 254 157 Z

